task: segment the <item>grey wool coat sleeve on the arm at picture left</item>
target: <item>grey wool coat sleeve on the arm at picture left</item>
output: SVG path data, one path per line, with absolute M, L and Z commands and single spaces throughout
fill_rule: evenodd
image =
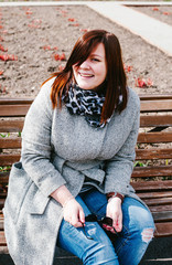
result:
M 53 150 L 51 86 L 52 80 L 42 86 L 28 112 L 22 131 L 21 153 L 24 170 L 46 197 L 66 183 L 51 162 Z

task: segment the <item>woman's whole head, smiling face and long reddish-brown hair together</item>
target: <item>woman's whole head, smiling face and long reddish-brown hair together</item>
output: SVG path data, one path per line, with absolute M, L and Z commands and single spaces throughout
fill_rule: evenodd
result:
M 85 77 L 87 73 L 93 76 Z M 127 78 L 120 43 L 110 32 L 93 30 L 80 36 L 64 71 L 53 76 L 56 77 L 51 95 L 53 107 L 57 106 L 58 97 L 62 106 L 63 92 L 67 93 L 73 83 L 83 89 L 94 89 L 106 95 L 100 117 L 104 123 L 111 117 L 115 107 L 119 112 L 126 108 Z

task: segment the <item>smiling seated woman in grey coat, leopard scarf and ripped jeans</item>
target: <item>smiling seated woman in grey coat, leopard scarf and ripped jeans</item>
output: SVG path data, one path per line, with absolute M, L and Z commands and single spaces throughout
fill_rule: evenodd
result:
M 139 264 L 154 230 L 129 184 L 139 113 L 118 39 L 85 33 L 25 118 L 3 210 L 17 265 L 52 265 L 56 245 L 83 264 Z

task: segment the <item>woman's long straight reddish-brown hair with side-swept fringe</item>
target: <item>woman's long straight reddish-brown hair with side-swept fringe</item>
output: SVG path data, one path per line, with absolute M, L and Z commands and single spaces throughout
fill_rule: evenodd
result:
M 107 63 L 106 94 L 101 112 L 101 123 L 106 123 L 112 115 L 115 108 L 117 108 L 119 113 L 126 108 L 127 78 L 123 70 L 120 44 L 115 34 L 105 30 L 92 30 L 80 36 L 73 47 L 65 68 L 53 74 L 53 76 L 56 76 L 51 93 L 53 108 L 62 107 L 63 91 L 68 92 L 69 84 L 74 80 L 73 65 L 77 64 L 79 66 L 99 43 L 103 43 L 105 46 Z M 119 104 L 120 95 L 122 96 L 122 102 Z

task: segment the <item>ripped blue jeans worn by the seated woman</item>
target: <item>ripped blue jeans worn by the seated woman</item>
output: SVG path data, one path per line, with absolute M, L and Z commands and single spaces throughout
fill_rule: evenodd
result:
M 90 213 L 99 219 L 106 215 L 107 199 L 98 190 L 80 193 L 76 200 L 86 216 Z M 122 231 L 118 236 L 114 235 L 112 241 L 97 222 L 86 222 L 84 231 L 63 220 L 57 246 L 78 256 L 85 265 L 137 265 L 153 237 L 153 219 L 142 203 L 127 197 L 122 203 Z

